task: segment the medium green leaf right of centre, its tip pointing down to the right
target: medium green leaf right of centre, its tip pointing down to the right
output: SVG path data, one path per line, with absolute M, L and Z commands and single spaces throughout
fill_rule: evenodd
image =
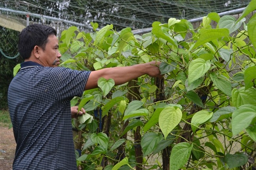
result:
M 211 80 L 215 84 L 215 86 L 220 89 L 220 91 L 224 92 L 228 96 L 232 96 L 232 85 L 230 81 L 227 81 L 225 76 L 216 75 L 214 72 L 210 74 Z

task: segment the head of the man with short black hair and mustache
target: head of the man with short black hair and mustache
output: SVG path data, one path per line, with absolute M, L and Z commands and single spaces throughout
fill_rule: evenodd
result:
M 33 24 L 24 28 L 19 35 L 19 53 L 23 59 L 56 67 L 60 61 L 56 30 L 50 26 Z

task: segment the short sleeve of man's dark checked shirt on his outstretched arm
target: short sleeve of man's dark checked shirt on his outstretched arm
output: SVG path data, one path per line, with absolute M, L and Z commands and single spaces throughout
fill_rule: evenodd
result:
M 51 90 L 59 101 L 70 101 L 74 96 L 81 97 L 90 71 L 78 71 L 70 68 L 55 67 L 49 70 Z

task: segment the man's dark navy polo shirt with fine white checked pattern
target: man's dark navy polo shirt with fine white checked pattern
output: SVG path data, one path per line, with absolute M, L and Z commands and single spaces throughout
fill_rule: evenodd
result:
M 89 71 L 26 61 L 8 89 L 17 143 L 13 170 L 77 170 L 70 100 L 82 96 Z

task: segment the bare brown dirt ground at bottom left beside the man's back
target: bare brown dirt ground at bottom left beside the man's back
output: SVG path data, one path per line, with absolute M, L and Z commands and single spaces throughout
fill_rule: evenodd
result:
M 15 148 L 13 129 L 0 126 L 0 170 L 12 170 Z

